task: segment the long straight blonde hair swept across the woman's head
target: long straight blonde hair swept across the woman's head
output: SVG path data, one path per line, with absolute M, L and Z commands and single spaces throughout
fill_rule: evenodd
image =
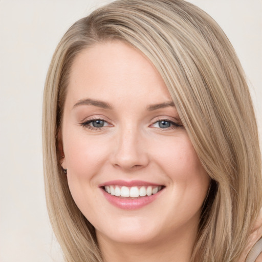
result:
M 43 159 L 48 211 L 65 259 L 102 261 L 95 229 L 75 205 L 59 164 L 71 64 L 81 50 L 116 39 L 155 65 L 211 178 L 191 261 L 236 261 L 262 203 L 256 120 L 226 35 L 182 0 L 113 2 L 77 21 L 54 53 L 43 100 Z

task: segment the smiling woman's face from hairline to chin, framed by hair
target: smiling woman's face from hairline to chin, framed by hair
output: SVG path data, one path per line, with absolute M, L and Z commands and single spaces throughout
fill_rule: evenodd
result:
M 113 41 L 77 55 L 61 145 L 72 197 L 99 239 L 197 231 L 209 177 L 164 81 L 134 48 Z

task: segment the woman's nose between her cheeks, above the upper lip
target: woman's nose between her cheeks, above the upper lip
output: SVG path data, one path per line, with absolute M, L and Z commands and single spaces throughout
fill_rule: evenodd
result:
M 146 138 L 136 128 L 121 130 L 115 141 L 111 158 L 111 162 L 115 167 L 133 171 L 148 165 Z

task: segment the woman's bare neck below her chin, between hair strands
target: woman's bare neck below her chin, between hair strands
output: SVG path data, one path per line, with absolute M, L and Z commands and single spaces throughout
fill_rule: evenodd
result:
M 197 227 L 189 227 L 150 242 L 130 244 L 112 241 L 97 232 L 104 262 L 189 262 L 196 237 Z

